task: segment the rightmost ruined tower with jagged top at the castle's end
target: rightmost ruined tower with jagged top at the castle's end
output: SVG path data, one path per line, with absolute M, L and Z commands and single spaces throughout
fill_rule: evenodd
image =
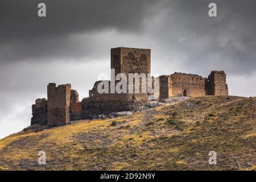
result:
M 208 76 L 208 94 L 214 96 L 228 96 L 228 85 L 224 71 L 212 71 Z

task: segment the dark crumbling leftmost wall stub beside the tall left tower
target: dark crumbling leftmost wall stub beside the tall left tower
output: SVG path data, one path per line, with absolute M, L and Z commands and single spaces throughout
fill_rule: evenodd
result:
M 47 100 L 38 98 L 32 105 L 31 125 L 47 125 Z

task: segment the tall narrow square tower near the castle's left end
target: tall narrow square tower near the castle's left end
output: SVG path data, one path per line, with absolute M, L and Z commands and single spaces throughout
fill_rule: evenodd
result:
M 71 84 L 49 84 L 48 95 L 48 125 L 64 125 L 69 122 L 69 106 L 71 98 Z

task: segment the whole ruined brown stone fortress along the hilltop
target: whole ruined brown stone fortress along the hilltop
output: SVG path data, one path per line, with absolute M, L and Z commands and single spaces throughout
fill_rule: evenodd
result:
M 111 68 L 118 73 L 150 73 L 151 50 L 141 48 L 112 48 Z M 155 78 L 152 77 L 154 82 Z M 105 80 L 111 83 L 112 81 Z M 226 74 L 224 71 L 212 71 L 208 78 L 186 73 L 174 73 L 158 77 L 159 86 L 156 100 L 177 96 L 225 96 L 228 95 Z M 150 93 L 98 93 L 96 81 L 89 97 L 79 101 L 79 94 L 71 89 L 71 84 L 47 86 L 46 98 L 39 98 L 32 105 L 31 125 L 57 126 L 71 121 L 91 119 L 96 115 L 117 111 L 138 110 L 145 105 Z M 114 81 L 114 85 L 118 81 Z M 141 90 L 140 90 L 141 91 Z

